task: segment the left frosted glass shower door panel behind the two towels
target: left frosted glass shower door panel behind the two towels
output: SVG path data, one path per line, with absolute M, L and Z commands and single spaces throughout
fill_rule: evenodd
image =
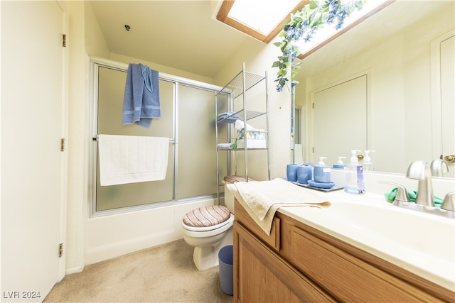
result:
M 98 68 L 98 134 L 167 137 L 173 141 L 173 96 L 175 84 L 160 80 L 161 118 L 153 119 L 150 128 L 137 124 L 122 125 L 123 95 L 127 72 L 107 67 Z M 99 153 L 97 153 L 99 157 Z M 97 160 L 96 211 L 138 206 L 173 200 L 174 149 L 169 146 L 166 179 L 100 186 Z

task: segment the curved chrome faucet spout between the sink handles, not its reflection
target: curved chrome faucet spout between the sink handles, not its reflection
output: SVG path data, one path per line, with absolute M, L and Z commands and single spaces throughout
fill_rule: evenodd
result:
M 407 168 L 406 177 L 419 180 L 415 203 L 434 207 L 432 172 L 428 163 L 422 160 L 412 162 Z

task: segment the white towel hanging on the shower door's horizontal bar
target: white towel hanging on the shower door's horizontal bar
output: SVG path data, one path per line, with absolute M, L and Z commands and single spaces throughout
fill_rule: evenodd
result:
M 168 138 L 98 135 L 100 184 L 164 180 L 168 149 Z

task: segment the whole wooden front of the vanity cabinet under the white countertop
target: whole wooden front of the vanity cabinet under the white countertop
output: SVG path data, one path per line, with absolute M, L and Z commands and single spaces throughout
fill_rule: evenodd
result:
M 455 293 L 279 209 L 267 235 L 235 200 L 234 302 L 454 302 Z

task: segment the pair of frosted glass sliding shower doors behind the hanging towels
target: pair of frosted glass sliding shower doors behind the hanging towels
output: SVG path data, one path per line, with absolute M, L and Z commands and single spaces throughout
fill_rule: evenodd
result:
M 96 150 L 92 213 L 109 214 L 112 210 L 118 213 L 119 209 L 171 204 L 216 194 L 215 89 L 160 77 L 161 118 L 153 119 L 150 128 L 122 125 L 126 69 L 97 64 L 95 69 L 96 133 L 166 137 L 170 145 L 165 180 L 112 186 L 100 186 Z

